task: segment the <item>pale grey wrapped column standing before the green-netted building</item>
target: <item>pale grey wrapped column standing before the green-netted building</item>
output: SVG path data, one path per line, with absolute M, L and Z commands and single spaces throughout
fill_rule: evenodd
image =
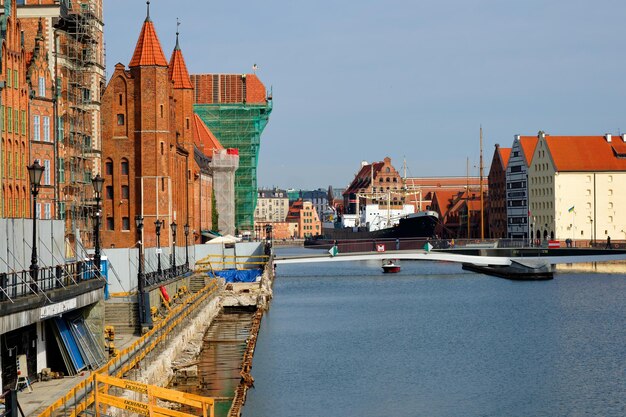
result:
M 217 228 L 222 234 L 235 234 L 235 171 L 239 167 L 239 155 L 233 149 L 213 151 L 213 190 L 219 214 Z M 215 227 L 215 225 L 213 225 Z

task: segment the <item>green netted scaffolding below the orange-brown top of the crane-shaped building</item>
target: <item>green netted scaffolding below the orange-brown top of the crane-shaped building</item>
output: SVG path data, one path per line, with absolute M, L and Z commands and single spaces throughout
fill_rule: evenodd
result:
M 235 173 L 235 226 L 239 233 L 253 231 L 261 133 L 269 120 L 272 101 L 194 104 L 194 111 L 225 148 L 239 150 L 239 168 Z M 220 218 L 226 214 L 218 213 Z

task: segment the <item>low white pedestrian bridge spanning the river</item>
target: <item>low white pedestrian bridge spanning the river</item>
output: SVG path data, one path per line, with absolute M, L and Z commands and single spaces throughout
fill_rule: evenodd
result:
M 313 252 L 313 250 L 312 250 Z M 318 262 L 346 262 L 369 260 L 414 260 L 433 262 L 471 263 L 474 265 L 511 265 L 512 261 L 525 264 L 573 264 L 626 260 L 625 250 L 600 249 L 493 249 L 493 250 L 400 250 L 388 252 L 340 253 L 331 256 L 328 252 L 311 255 L 275 256 L 274 264 L 299 264 Z

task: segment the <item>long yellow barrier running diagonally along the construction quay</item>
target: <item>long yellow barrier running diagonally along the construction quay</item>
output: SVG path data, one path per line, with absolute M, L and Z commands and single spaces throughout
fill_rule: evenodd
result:
M 79 382 L 77 385 L 74 386 L 74 388 L 69 390 L 63 397 L 59 398 L 58 400 L 50 404 L 48 408 L 46 408 L 41 414 L 39 414 L 39 417 L 52 417 L 52 414 L 56 410 L 61 408 L 64 404 L 71 402 L 74 398 L 77 398 L 81 394 L 81 391 L 84 392 L 85 388 L 88 385 L 92 385 L 93 387 L 93 385 L 95 384 L 96 375 L 98 374 L 106 375 L 109 368 L 115 367 L 115 365 L 117 365 L 118 363 L 122 361 L 122 358 L 129 357 L 133 351 L 135 351 L 141 344 L 145 344 L 156 332 L 163 330 L 163 333 L 159 337 L 155 338 L 152 341 L 152 343 L 145 346 L 144 349 L 142 349 L 138 354 L 136 354 L 132 359 L 130 359 L 128 363 L 121 366 L 115 373 L 115 376 L 120 377 L 124 375 L 125 373 L 127 373 L 128 371 L 130 371 L 132 368 L 135 367 L 135 365 L 137 365 L 137 363 L 139 363 L 143 358 L 145 358 L 146 355 L 150 353 L 159 343 L 161 343 L 165 339 L 165 337 L 174 329 L 174 327 L 176 327 L 189 314 L 191 314 L 191 312 L 193 312 L 200 303 L 202 303 L 211 294 L 213 294 L 213 292 L 215 292 L 216 289 L 217 289 L 217 282 L 211 281 L 202 290 L 193 294 L 191 297 L 185 299 L 185 303 L 178 305 L 176 308 L 173 308 L 170 311 L 170 314 L 168 314 L 167 318 L 177 315 L 185 308 L 186 305 L 193 303 L 193 306 L 187 309 L 183 314 L 181 314 L 180 317 L 178 317 L 176 320 L 173 320 L 173 321 L 169 321 L 166 318 L 166 320 L 162 320 L 159 323 L 155 324 L 154 327 L 149 332 L 147 332 L 141 338 L 136 340 L 132 345 L 122 350 L 118 356 L 109 360 L 109 362 L 107 362 L 105 365 L 95 370 L 89 378 Z M 91 392 L 85 398 L 80 400 L 78 404 L 74 405 L 74 410 L 69 415 L 69 417 L 76 417 L 78 414 L 85 411 L 87 407 L 92 405 L 93 402 L 94 402 L 94 390 L 92 389 Z

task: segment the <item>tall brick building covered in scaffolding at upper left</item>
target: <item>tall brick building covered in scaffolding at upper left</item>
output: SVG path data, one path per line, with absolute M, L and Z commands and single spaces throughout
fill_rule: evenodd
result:
M 24 2 L 27 3 L 27 2 Z M 21 21 L 41 21 L 55 74 L 55 200 L 66 223 L 68 256 L 91 246 L 91 178 L 100 172 L 100 91 L 104 85 L 102 0 L 41 0 L 18 7 Z M 77 244 L 77 245 L 76 245 Z

